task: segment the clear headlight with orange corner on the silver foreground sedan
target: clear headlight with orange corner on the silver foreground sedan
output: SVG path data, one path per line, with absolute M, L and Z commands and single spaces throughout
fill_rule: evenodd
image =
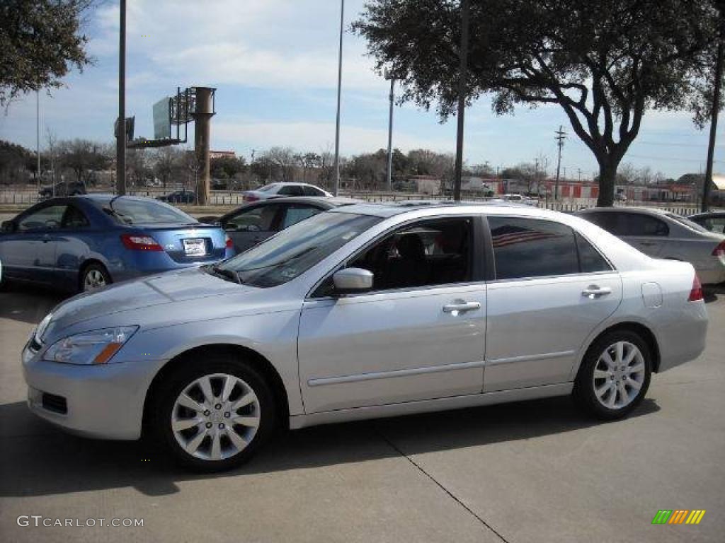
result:
M 55 342 L 43 360 L 66 364 L 104 364 L 115 355 L 138 327 L 117 327 L 83 332 Z

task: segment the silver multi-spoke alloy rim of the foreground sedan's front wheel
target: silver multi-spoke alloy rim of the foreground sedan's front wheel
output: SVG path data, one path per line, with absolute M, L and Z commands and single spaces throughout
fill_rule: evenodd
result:
M 252 442 L 260 420 L 260 401 L 247 382 L 236 375 L 210 374 L 181 391 L 170 424 L 188 455 L 225 460 Z

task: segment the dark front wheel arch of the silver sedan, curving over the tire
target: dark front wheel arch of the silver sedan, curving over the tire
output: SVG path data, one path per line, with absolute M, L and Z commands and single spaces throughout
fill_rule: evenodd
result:
M 149 412 L 154 400 L 156 399 L 157 391 L 159 390 L 159 384 L 163 382 L 167 375 L 171 374 L 175 369 L 183 363 L 188 363 L 188 357 L 194 353 L 218 353 L 221 355 L 230 356 L 234 358 L 244 358 L 244 360 L 250 361 L 255 369 L 259 370 L 264 377 L 265 381 L 268 382 L 274 399 L 278 408 L 278 423 L 284 427 L 289 426 L 289 400 L 287 397 L 287 390 L 284 387 L 284 383 L 278 371 L 272 365 L 267 358 L 262 356 L 257 351 L 244 347 L 244 345 L 236 345 L 233 343 L 210 343 L 207 345 L 197 345 L 196 347 L 183 350 L 181 353 L 176 354 L 171 358 L 164 366 L 157 371 L 154 379 L 152 379 L 149 389 L 146 391 L 146 397 L 144 398 L 144 411 L 142 414 L 141 421 L 141 433 L 146 434 L 146 431 L 151 420 L 151 413 Z

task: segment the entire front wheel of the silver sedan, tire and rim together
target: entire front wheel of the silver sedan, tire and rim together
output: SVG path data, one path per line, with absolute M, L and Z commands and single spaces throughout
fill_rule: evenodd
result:
M 161 384 L 152 432 L 183 466 L 223 471 L 249 460 L 273 431 L 276 406 L 265 379 L 223 355 L 182 363 Z

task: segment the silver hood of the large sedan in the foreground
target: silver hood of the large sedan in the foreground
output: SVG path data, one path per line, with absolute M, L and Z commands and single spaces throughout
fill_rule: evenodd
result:
M 42 339 L 57 337 L 81 324 L 83 329 L 119 326 L 121 323 L 154 324 L 178 318 L 184 313 L 191 314 L 191 310 L 200 306 L 218 308 L 218 298 L 239 302 L 240 297 L 253 291 L 259 289 L 220 279 L 201 268 L 170 271 L 117 283 L 96 292 L 80 294 L 54 308 Z M 212 301 L 208 303 L 198 303 L 198 300 L 210 298 Z M 174 307 L 169 307 L 171 305 Z

